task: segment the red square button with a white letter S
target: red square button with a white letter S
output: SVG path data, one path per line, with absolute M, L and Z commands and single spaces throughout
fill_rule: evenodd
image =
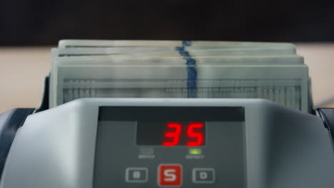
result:
M 158 185 L 160 187 L 180 187 L 182 184 L 182 166 L 180 164 L 160 164 L 158 167 Z

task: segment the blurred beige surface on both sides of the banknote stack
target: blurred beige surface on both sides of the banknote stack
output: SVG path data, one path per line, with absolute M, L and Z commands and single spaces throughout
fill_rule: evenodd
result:
M 334 107 L 334 43 L 300 43 L 312 79 L 316 106 Z M 0 114 L 12 108 L 36 108 L 49 74 L 51 46 L 0 48 Z

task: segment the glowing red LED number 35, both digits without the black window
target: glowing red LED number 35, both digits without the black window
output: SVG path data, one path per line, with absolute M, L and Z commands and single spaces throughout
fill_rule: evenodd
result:
M 167 122 L 163 132 L 163 146 L 204 145 L 205 124 L 203 122 Z

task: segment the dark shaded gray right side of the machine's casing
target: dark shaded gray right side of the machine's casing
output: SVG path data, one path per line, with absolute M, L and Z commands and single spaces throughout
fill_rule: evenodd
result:
M 320 117 L 282 107 L 268 117 L 267 187 L 333 187 L 333 145 Z

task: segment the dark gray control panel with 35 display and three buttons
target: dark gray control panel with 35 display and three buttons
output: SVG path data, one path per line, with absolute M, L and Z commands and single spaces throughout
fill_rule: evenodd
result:
M 245 187 L 242 107 L 100 107 L 94 187 Z

